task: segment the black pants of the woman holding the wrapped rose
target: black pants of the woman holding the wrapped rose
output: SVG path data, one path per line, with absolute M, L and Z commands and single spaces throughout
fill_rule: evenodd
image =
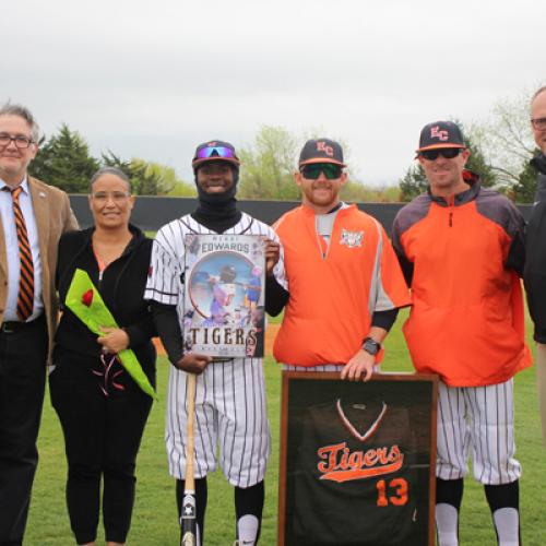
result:
M 119 364 L 109 377 L 116 376 L 114 382 L 123 390 L 105 383 L 98 358 L 58 352 L 49 388 L 64 434 L 72 531 L 79 544 L 95 541 L 103 478 L 106 541 L 124 543 L 134 502 L 136 453 L 152 399 Z

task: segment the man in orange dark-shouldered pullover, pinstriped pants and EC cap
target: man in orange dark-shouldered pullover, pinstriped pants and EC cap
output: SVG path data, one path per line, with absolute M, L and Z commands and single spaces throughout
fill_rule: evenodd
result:
M 424 127 L 417 158 L 428 191 L 405 205 L 393 245 L 412 287 L 404 334 L 417 371 L 440 376 L 436 524 L 459 544 L 459 510 L 472 447 L 498 544 L 519 538 L 513 376 L 530 366 L 520 276 L 524 222 L 503 195 L 465 170 L 470 152 L 449 121 Z

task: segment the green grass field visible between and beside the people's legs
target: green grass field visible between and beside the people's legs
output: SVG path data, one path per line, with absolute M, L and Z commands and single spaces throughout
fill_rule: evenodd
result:
M 401 333 L 403 317 L 393 328 L 387 343 L 384 371 L 411 371 L 410 358 Z M 529 328 L 531 331 L 531 328 Z M 265 510 L 261 543 L 276 544 L 278 430 L 281 372 L 266 358 L 266 384 L 273 454 L 265 482 Z M 128 544 L 167 546 L 178 544 L 178 525 L 174 480 L 168 476 L 164 448 L 164 410 L 168 363 L 158 361 L 158 393 L 144 434 L 138 461 L 138 490 Z M 546 451 L 538 422 L 536 380 L 533 368 L 515 380 L 517 456 L 523 466 L 521 478 L 522 538 L 526 546 L 546 545 Z M 46 395 L 39 437 L 40 462 L 33 491 L 33 502 L 25 544 L 74 544 L 64 506 L 64 446 L 60 426 Z M 209 546 L 232 545 L 235 535 L 233 490 L 218 473 L 210 476 L 205 541 Z M 99 543 L 103 539 L 99 533 Z M 461 517 L 461 544 L 488 546 L 497 544 L 483 488 L 466 479 Z M 411 546 L 411 545 L 408 545 Z

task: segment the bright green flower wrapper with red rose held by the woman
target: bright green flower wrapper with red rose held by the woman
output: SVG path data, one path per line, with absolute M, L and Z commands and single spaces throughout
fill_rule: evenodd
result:
M 90 275 L 76 269 L 67 294 L 67 307 L 95 334 L 103 335 L 102 328 L 119 328 L 116 319 L 106 307 Z M 135 383 L 154 400 L 158 400 L 134 352 L 124 348 L 118 358 Z

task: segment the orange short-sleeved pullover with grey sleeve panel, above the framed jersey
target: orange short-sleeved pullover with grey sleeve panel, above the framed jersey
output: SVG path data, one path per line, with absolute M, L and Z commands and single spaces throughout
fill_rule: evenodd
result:
M 375 311 L 410 305 L 387 234 L 355 205 L 337 212 L 325 257 L 310 207 L 287 212 L 274 228 L 290 294 L 273 347 L 277 361 L 344 365 L 361 348 Z

